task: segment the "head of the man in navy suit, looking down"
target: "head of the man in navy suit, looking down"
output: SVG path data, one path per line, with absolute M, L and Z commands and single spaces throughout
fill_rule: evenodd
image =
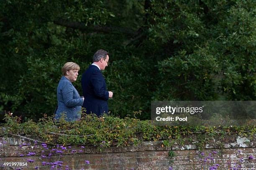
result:
M 108 66 L 109 53 L 105 50 L 97 50 L 93 55 L 93 62 L 100 67 L 100 70 L 105 70 L 105 67 Z

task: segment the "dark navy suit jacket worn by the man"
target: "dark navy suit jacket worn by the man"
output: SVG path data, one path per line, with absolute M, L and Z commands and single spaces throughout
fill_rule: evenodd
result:
M 95 113 L 97 116 L 108 113 L 108 91 L 105 79 L 100 69 L 95 65 L 90 67 L 82 75 L 82 90 L 84 95 L 83 107 L 86 113 Z

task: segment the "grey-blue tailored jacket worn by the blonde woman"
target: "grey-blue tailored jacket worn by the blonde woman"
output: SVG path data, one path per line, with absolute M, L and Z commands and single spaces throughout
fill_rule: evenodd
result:
M 58 108 L 55 115 L 57 121 L 62 113 L 67 116 L 66 120 L 69 122 L 80 119 L 83 99 L 79 96 L 79 93 L 73 84 L 65 76 L 62 76 L 59 80 L 57 99 Z

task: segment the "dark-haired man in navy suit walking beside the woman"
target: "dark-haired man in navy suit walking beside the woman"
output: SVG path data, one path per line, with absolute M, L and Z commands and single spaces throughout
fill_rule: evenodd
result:
M 82 75 L 82 90 L 84 95 L 83 107 L 86 113 L 97 116 L 108 113 L 107 100 L 113 97 L 113 92 L 107 91 L 105 79 L 100 70 L 108 66 L 109 53 L 98 50 L 93 55 L 93 63 Z

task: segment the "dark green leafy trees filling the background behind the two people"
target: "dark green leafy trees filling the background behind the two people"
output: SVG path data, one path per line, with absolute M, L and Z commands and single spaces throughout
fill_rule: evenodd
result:
M 110 52 L 103 71 L 112 115 L 151 100 L 255 100 L 253 0 L 2 0 L 0 118 L 52 115 L 65 62 L 81 70 Z

